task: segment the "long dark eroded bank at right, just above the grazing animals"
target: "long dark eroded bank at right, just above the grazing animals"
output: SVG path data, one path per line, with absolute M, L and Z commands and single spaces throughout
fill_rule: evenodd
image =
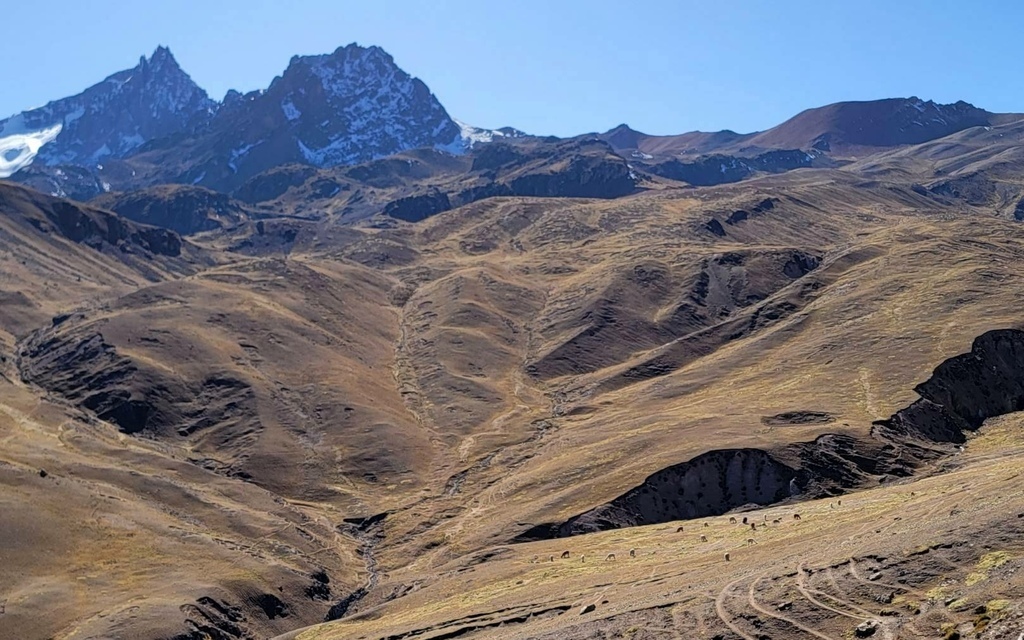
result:
M 1024 411 L 1024 331 L 990 331 L 970 353 L 939 365 L 914 390 L 921 398 L 874 424 L 871 437 L 823 434 L 775 451 L 721 450 L 648 476 L 611 502 L 562 523 L 540 524 L 517 540 L 718 515 L 796 495 L 820 497 L 907 476 L 965 441 L 965 433 L 995 416 Z M 776 417 L 777 418 L 777 417 Z

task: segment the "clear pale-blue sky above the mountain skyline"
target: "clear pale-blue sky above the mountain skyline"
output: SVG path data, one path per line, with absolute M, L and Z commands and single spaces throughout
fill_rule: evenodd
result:
M 452 116 L 537 134 L 748 132 L 909 95 L 1024 112 L 1016 0 L 11 0 L 0 19 L 0 116 L 158 44 L 219 99 L 353 41 L 386 49 Z

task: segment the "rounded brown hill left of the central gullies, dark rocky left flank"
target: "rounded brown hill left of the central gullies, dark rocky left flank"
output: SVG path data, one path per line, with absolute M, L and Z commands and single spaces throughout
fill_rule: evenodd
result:
M 430 462 L 393 386 L 389 287 L 350 265 L 240 262 L 44 331 L 23 373 L 278 495 L 356 508 L 354 487 L 371 487 L 379 508 L 396 485 L 415 492 Z M 97 342 L 116 355 L 86 348 Z

